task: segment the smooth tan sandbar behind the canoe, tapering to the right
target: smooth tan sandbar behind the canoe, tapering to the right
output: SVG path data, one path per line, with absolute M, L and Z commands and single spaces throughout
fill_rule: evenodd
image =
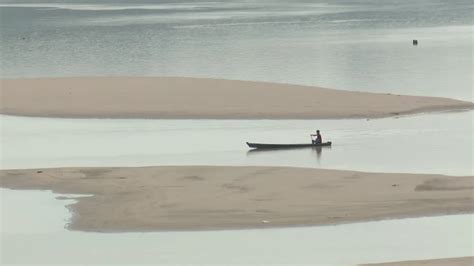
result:
M 0 113 L 87 118 L 377 118 L 472 109 L 446 98 L 196 78 L 0 81 Z

